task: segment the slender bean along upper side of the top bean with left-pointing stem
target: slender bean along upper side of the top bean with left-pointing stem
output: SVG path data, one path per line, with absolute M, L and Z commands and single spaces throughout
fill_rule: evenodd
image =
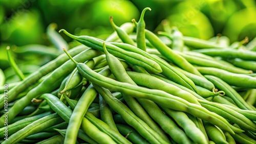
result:
M 162 68 L 162 73 L 164 76 L 168 77 L 168 79 L 181 84 L 191 90 L 196 91 L 196 86 L 194 84 L 193 81 L 191 81 L 190 79 L 188 79 L 184 74 L 180 73 L 177 69 L 173 68 L 170 64 L 168 64 L 167 62 L 154 57 L 151 54 L 148 54 L 140 49 L 138 49 L 135 46 L 129 45 L 129 44 L 125 44 L 125 43 L 112 43 L 118 47 L 121 47 L 121 49 L 124 49 L 126 51 L 132 51 L 135 53 L 138 53 L 140 55 L 143 55 L 144 57 L 147 57 L 149 59 L 152 59 L 154 61 L 156 61 Z

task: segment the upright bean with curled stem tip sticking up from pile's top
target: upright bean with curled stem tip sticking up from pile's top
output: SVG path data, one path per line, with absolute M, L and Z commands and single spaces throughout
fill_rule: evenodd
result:
M 146 51 L 146 42 L 145 42 L 145 21 L 144 21 L 144 14 L 147 10 L 151 11 L 151 8 L 144 8 L 141 12 L 140 19 L 138 24 L 136 25 L 136 42 L 137 47 L 143 51 Z

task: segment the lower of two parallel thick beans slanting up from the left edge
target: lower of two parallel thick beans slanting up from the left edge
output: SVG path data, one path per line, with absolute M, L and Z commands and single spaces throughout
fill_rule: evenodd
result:
M 96 57 L 100 55 L 101 53 L 97 50 L 88 49 L 84 51 L 83 53 L 80 53 L 76 56 L 76 59 L 78 61 L 86 61 L 88 59 L 91 59 L 93 57 Z M 55 69 L 51 75 L 49 75 L 43 82 L 41 82 L 38 86 L 33 88 L 29 91 L 29 93 L 26 95 L 26 97 L 23 97 L 18 101 L 16 105 L 14 105 L 9 110 L 8 119 L 11 121 L 24 107 L 26 107 L 33 98 L 39 97 L 39 94 L 50 92 L 54 90 L 57 86 L 59 86 L 60 82 L 66 77 L 67 74 L 69 74 L 71 69 L 75 68 L 75 65 L 72 61 L 67 61 L 66 63 L 62 64 L 60 67 Z M 51 87 L 49 87 L 51 85 Z M 9 100 L 9 98 L 8 98 Z M 0 119 L 0 126 L 3 125 L 5 121 L 5 117 L 2 116 Z

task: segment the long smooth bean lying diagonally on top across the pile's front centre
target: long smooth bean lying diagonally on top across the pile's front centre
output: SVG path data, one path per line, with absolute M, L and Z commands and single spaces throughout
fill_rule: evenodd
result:
M 233 133 L 233 131 L 230 128 L 230 124 L 223 117 L 215 113 L 212 113 L 204 109 L 203 107 L 191 104 L 179 97 L 175 97 L 172 94 L 166 93 L 161 90 L 153 90 L 134 86 L 127 83 L 121 83 L 113 79 L 103 77 L 101 75 L 98 75 L 88 66 L 82 63 L 78 63 L 77 69 L 84 78 L 88 79 L 92 83 L 98 84 L 113 91 L 129 93 L 131 94 L 132 97 L 152 100 L 168 108 L 188 112 L 194 116 L 205 119 L 205 121 L 211 122 L 212 124 L 219 126 L 223 130 Z M 170 103 L 174 105 L 169 105 Z

